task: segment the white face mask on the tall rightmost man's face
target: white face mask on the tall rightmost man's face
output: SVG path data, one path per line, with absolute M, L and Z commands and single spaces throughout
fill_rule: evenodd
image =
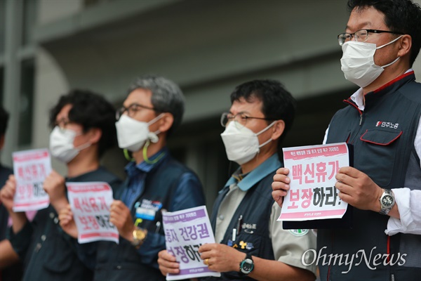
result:
M 383 48 L 389 44 L 394 43 L 401 38 L 402 35 L 389 43 L 376 47 L 375 44 L 347 41 L 342 45 L 343 55 L 340 59 L 342 65 L 341 70 L 345 74 L 345 79 L 352 81 L 352 83 L 364 88 L 370 85 L 377 77 L 382 74 L 385 67 L 393 65 L 399 60 L 399 57 L 392 63 L 387 65 L 378 66 L 374 63 L 374 53 L 379 48 Z

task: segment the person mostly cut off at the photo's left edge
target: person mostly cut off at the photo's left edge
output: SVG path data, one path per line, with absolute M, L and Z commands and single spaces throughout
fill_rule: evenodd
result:
M 4 147 L 8 117 L 8 112 L 0 106 L 0 150 Z M 8 176 L 11 174 L 13 174 L 12 169 L 2 166 L 0 163 L 0 186 L 6 183 Z M 20 280 L 22 266 L 19 264 L 13 266 L 15 263 L 18 263 L 19 256 L 13 250 L 11 242 L 6 239 L 7 226 L 8 211 L 0 201 L 0 280 Z

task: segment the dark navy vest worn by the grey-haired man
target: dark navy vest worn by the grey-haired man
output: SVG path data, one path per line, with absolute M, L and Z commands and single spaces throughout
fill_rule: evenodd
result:
M 172 211 L 171 203 L 174 199 L 173 195 L 175 189 L 178 187 L 178 183 L 180 183 L 180 178 L 185 173 L 193 172 L 186 166 L 175 161 L 172 157 L 166 156 L 166 159 L 161 160 L 156 167 L 147 173 L 145 189 L 135 202 L 140 203 L 142 200 L 161 202 L 161 209 Z M 128 178 L 122 184 L 121 192 L 127 188 L 129 180 L 130 179 Z M 201 204 L 203 204 L 203 202 L 201 202 Z M 136 203 L 131 209 L 134 222 L 136 221 L 135 211 L 138 206 L 138 203 Z M 156 233 L 156 223 L 158 221 L 162 223 L 161 209 L 156 211 L 154 220 L 142 220 L 142 222 L 138 224 L 138 227 L 147 229 L 149 233 Z M 163 227 L 159 228 L 158 231 L 160 234 L 159 236 L 164 238 L 165 234 L 163 233 Z M 154 237 L 156 237 L 156 235 L 154 235 Z M 151 237 L 147 237 L 145 244 L 148 243 L 148 239 L 151 239 Z M 160 248 L 158 250 L 165 249 L 165 242 L 163 244 L 157 244 L 156 247 Z M 152 263 L 156 263 L 158 256 L 148 257 L 150 264 L 145 264 L 142 262 L 142 257 L 138 254 L 138 251 L 142 251 L 142 247 L 137 250 L 133 247 L 131 242 L 128 242 L 121 237 L 119 244 L 107 241 L 98 242 L 95 280 L 166 280 L 166 277 L 162 275 L 158 268 L 152 267 Z

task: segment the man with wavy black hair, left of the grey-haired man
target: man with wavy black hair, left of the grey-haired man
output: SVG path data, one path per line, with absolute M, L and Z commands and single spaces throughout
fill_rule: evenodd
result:
M 1 201 L 13 218 L 10 241 L 25 264 L 23 280 L 92 280 L 93 270 L 76 251 L 77 241 L 58 226 L 58 212 L 68 204 L 65 181 L 105 181 L 114 192 L 119 187 L 119 178 L 100 166 L 100 157 L 116 144 L 114 122 L 114 108 L 102 96 L 80 90 L 62 96 L 50 114 L 50 149 L 66 163 L 67 178 L 52 171 L 44 181 L 51 205 L 29 223 L 25 213 L 12 209 L 15 178 L 1 190 Z

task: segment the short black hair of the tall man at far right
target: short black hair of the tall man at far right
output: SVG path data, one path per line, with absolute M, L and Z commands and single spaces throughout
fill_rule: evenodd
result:
M 389 30 L 412 37 L 409 63 L 412 67 L 421 48 L 421 8 L 411 0 L 349 0 L 347 8 L 351 13 L 354 8 L 373 6 L 385 15 L 385 24 Z

